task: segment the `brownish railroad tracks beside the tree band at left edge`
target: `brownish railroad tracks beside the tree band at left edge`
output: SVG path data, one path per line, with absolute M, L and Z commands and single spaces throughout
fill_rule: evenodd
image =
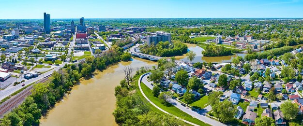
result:
M 37 81 L 35 84 L 44 83 L 48 80 L 49 77 L 50 77 L 50 75 L 46 76 L 45 78 L 43 78 L 39 81 Z M 15 108 L 18 105 L 18 103 L 22 102 L 27 96 L 29 96 L 31 94 L 31 89 L 33 89 L 33 84 L 30 85 L 29 87 L 27 87 L 26 89 L 24 89 L 23 91 L 21 91 L 20 93 L 16 94 L 15 96 L 10 98 L 9 100 L 0 104 L 0 117 L 3 117 L 3 115 L 6 112 Z

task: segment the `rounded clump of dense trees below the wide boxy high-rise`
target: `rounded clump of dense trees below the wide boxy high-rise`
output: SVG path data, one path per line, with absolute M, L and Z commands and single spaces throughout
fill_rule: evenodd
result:
M 187 53 L 187 45 L 176 41 L 172 44 L 169 42 L 159 42 L 156 45 L 148 46 L 145 44 L 144 46 L 140 47 L 141 53 L 153 55 L 153 56 L 181 56 Z

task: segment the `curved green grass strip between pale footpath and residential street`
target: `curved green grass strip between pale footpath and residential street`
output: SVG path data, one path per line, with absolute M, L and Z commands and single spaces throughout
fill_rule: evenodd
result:
M 162 104 L 162 101 L 160 99 L 158 99 L 156 97 L 153 97 L 152 90 L 150 88 L 148 88 L 145 84 L 141 83 L 141 88 L 142 88 L 144 94 L 155 105 L 157 105 L 161 109 L 165 110 L 166 112 L 169 112 L 169 113 L 171 113 L 171 114 L 173 114 L 173 115 L 175 115 L 175 116 L 177 116 L 179 118 L 182 118 L 184 120 L 190 121 L 190 122 L 195 123 L 195 124 L 200 125 L 200 126 L 210 126 L 210 125 L 208 125 L 208 124 L 206 124 L 206 123 L 204 123 L 204 122 L 202 122 L 202 121 L 200 121 L 200 120 L 198 120 L 196 118 L 193 118 L 191 115 L 189 115 L 189 114 L 181 111 L 180 109 L 178 109 L 177 107 L 175 107 L 175 106 L 173 106 L 171 104 L 170 105 L 164 105 L 164 104 Z M 140 95 L 142 95 L 140 91 L 138 91 L 138 92 L 139 92 Z M 143 96 L 141 96 L 141 97 L 143 97 Z M 152 109 L 152 110 L 154 110 L 154 109 Z

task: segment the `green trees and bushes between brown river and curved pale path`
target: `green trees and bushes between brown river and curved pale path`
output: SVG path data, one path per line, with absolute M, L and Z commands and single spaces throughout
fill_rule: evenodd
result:
M 137 82 L 148 68 L 140 68 L 132 77 L 131 85 L 125 79 L 115 88 L 116 109 L 113 112 L 115 121 L 120 126 L 184 126 L 181 120 L 165 114 L 152 106 L 140 93 Z M 151 90 L 152 91 L 152 90 Z M 152 93 L 151 93 L 152 94 Z

